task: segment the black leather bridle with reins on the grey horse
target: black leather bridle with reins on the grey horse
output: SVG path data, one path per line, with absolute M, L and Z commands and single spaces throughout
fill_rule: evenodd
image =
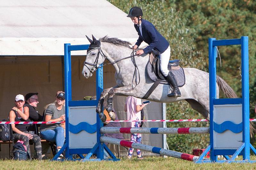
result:
M 105 62 L 103 62 L 102 63 L 102 66 L 97 66 L 98 65 L 98 62 L 99 62 L 99 57 L 100 57 L 100 55 L 106 60 L 107 59 L 107 57 L 106 57 L 106 55 L 103 53 L 103 51 L 101 50 L 101 47 L 100 47 L 100 41 L 98 40 L 98 46 L 96 46 L 96 47 L 89 47 L 88 49 L 87 49 L 87 54 L 88 53 L 90 53 L 91 51 L 93 51 L 93 50 L 96 50 L 96 49 L 98 49 L 98 53 L 97 53 L 97 56 L 96 56 L 96 59 L 95 59 L 95 61 L 93 62 L 93 63 L 89 63 L 89 62 L 86 62 L 86 61 L 84 61 L 84 66 L 85 67 L 87 67 L 88 68 L 88 70 L 90 70 L 90 73 L 93 73 L 93 71 L 95 71 L 95 70 L 97 70 L 98 68 L 101 68 L 101 67 L 103 67 L 103 66 L 106 66 L 106 65 L 108 65 L 108 64 L 115 64 L 115 63 L 117 63 L 117 62 L 119 62 L 119 61 L 121 61 L 121 60 L 125 60 L 125 59 L 129 59 L 129 58 L 131 58 L 131 60 L 132 60 L 132 63 L 133 63 L 133 65 L 135 66 L 135 70 L 134 70 L 134 73 L 133 73 L 133 78 L 132 78 L 132 89 L 134 89 L 139 83 L 140 83 L 140 72 L 139 72 L 139 69 L 138 69 L 138 67 L 137 67 L 137 65 L 136 65 L 136 62 L 135 62 L 135 56 L 138 56 L 137 54 L 136 54 L 136 51 L 134 51 L 134 50 L 132 50 L 132 53 L 131 53 L 131 55 L 130 56 L 128 56 L 128 57 L 125 57 L 125 58 L 122 58 L 122 59 L 119 59 L 119 60 L 116 60 L 116 61 L 113 61 L 113 62 L 109 62 L 109 63 L 107 63 L 108 61 L 105 61 Z M 134 54 L 135 53 L 135 54 Z M 89 67 L 87 66 L 87 65 L 90 65 L 90 66 L 93 66 L 91 69 L 89 69 Z M 138 74 L 139 74 L 139 82 L 137 82 L 137 70 L 138 70 Z M 134 77 L 135 77 L 135 87 L 133 88 L 133 79 L 134 79 Z

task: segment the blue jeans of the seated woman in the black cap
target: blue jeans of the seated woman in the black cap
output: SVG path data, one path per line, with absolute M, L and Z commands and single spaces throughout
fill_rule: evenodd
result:
M 41 137 L 50 142 L 56 142 L 56 146 L 62 147 L 64 145 L 64 129 L 63 127 L 56 127 L 54 130 L 48 129 L 40 131 Z

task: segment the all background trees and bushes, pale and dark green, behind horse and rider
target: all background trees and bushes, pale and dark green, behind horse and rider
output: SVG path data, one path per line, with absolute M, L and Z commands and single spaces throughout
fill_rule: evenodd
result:
M 183 67 L 208 70 L 208 38 L 234 39 L 249 36 L 250 113 L 254 113 L 256 98 L 256 0 L 108 0 L 128 13 L 132 6 L 143 10 L 143 18 L 169 41 L 172 56 Z M 135 31 L 135 30 L 134 30 Z M 219 46 L 217 59 L 220 75 L 241 97 L 240 46 Z M 222 97 L 222 95 L 221 95 Z M 203 119 L 186 102 L 167 104 L 167 119 Z M 167 123 L 168 127 L 205 127 L 208 123 Z M 170 149 L 191 153 L 193 148 L 205 148 L 208 135 L 168 135 Z M 252 139 L 255 142 L 255 138 Z M 255 146 L 255 145 L 254 145 Z

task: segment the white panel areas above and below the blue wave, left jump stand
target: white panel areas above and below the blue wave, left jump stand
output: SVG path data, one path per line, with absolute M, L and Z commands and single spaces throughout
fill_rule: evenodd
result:
M 90 125 L 97 123 L 96 106 L 73 106 L 69 107 L 69 124 L 76 126 L 86 122 Z M 97 133 L 80 131 L 69 133 L 69 148 L 92 148 L 97 143 Z

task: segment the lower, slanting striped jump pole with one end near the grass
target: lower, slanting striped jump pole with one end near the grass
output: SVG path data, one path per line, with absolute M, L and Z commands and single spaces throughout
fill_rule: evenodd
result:
M 106 143 L 110 143 L 110 144 L 114 144 L 114 145 L 121 145 L 121 146 L 129 147 L 129 148 L 140 149 L 140 150 L 147 151 L 147 152 L 153 152 L 153 153 L 157 153 L 160 155 L 166 155 L 166 156 L 189 160 L 189 161 L 195 161 L 199 158 L 198 156 L 195 156 L 195 155 L 190 155 L 190 154 L 186 154 L 186 153 L 162 149 L 162 148 L 149 146 L 149 145 L 143 145 L 143 144 L 139 144 L 139 143 L 135 143 L 135 142 L 129 142 L 129 141 L 120 140 L 120 139 L 116 139 L 116 138 L 109 138 L 106 136 L 100 137 L 100 142 L 106 142 Z M 209 159 L 203 158 L 203 160 L 209 160 Z

